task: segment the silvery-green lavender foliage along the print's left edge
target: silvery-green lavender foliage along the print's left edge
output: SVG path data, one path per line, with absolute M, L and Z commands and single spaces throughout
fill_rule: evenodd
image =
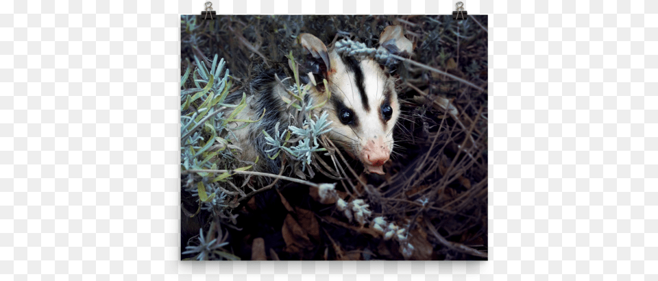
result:
M 221 108 L 235 107 L 223 103 L 232 80 L 230 71 L 225 69 L 224 60 L 219 60 L 219 63 L 217 60 L 218 56 L 215 55 L 208 69 L 195 56 L 196 66 L 188 64 L 181 77 L 181 171 L 212 170 L 220 168 L 219 165 L 230 169 L 234 164 L 232 150 L 235 147 L 221 137 L 228 133 L 226 123 L 229 121 Z M 195 87 L 186 88 L 188 85 Z M 238 193 L 227 192 L 221 186 L 227 178 L 228 175 L 211 176 L 210 173 L 186 174 L 182 177 L 184 190 L 191 193 L 199 204 L 197 212 L 206 210 L 219 217 L 232 217 L 226 202 L 231 195 Z

